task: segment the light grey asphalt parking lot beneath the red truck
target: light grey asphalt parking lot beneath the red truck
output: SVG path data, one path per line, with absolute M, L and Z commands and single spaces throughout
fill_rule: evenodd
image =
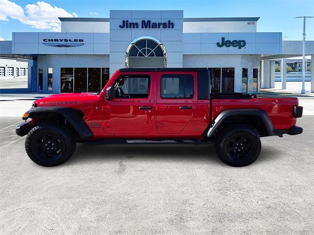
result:
M 262 138 L 242 168 L 212 145 L 85 144 L 42 167 L 14 135 L 20 120 L 0 118 L 0 234 L 314 233 L 314 116 L 302 135 Z

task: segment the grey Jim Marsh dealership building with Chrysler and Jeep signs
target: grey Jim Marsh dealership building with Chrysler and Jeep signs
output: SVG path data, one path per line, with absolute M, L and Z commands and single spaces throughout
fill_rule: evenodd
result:
M 302 41 L 283 41 L 281 32 L 257 32 L 259 17 L 111 10 L 110 18 L 59 19 L 59 33 L 13 32 L 12 41 L 0 42 L 0 56 L 28 59 L 33 92 L 99 92 L 120 68 L 205 67 L 213 92 L 255 93 L 274 87 L 276 60 L 284 65 L 286 58 L 302 55 Z M 306 42 L 306 54 L 314 54 L 314 41 Z M 5 75 L 0 60 L 2 70 Z

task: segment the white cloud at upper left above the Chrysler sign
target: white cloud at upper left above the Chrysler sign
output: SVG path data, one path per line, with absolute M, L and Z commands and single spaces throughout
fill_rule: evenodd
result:
M 10 17 L 33 28 L 50 29 L 55 32 L 61 31 L 61 22 L 58 17 L 78 17 L 76 13 L 68 13 L 44 1 L 27 4 L 24 9 L 9 0 L 0 0 L 0 5 L 0 21 L 7 22 Z

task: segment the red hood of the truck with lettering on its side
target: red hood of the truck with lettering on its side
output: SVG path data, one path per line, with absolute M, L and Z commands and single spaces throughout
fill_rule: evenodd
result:
M 92 93 L 66 93 L 52 94 L 45 98 L 38 99 L 34 103 L 37 106 L 55 106 L 55 105 L 85 105 L 86 97 L 94 95 Z

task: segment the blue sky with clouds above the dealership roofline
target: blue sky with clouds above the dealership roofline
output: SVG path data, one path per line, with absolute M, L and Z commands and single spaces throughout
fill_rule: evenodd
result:
M 283 32 L 284 40 L 302 40 L 302 19 L 314 16 L 314 0 L 0 0 L 0 38 L 12 32 L 60 30 L 58 16 L 109 17 L 109 10 L 183 10 L 189 17 L 261 17 L 258 32 Z M 306 24 L 314 40 L 314 18 Z

